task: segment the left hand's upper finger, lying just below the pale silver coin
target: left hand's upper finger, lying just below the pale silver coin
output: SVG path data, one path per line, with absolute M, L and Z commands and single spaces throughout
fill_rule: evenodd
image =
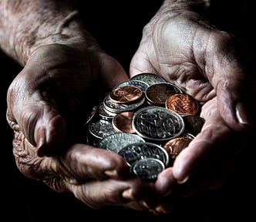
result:
M 77 183 L 130 177 L 130 168 L 122 156 L 82 143 L 72 145 L 61 160 L 71 180 L 76 178 Z

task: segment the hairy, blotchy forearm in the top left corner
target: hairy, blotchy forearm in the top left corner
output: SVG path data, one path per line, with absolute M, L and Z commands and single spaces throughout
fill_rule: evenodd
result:
M 42 45 L 86 43 L 79 13 L 62 0 L 0 1 L 0 46 L 25 65 L 29 55 Z M 89 38 L 89 36 L 87 36 Z

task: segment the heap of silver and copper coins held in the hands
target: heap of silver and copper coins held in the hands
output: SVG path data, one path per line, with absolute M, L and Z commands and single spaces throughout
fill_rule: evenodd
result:
M 157 175 L 200 132 L 197 100 L 153 73 L 140 73 L 115 86 L 93 107 L 83 143 L 123 156 L 132 173 L 147 181 Z

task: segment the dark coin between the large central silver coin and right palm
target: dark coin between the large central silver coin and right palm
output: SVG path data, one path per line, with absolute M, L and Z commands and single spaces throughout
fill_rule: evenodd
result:
M 194 136 L 200 133 L 205 122 L 204 118 L 194 115 L 184 116 L 183 119 L 186 133 L 190 133 Z

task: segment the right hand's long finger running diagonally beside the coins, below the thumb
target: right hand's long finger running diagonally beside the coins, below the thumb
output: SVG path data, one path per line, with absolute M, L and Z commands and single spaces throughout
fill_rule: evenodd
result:
M 215 166 L 234 156 L 240 148 L 242 136 L 225 125 L 217 109 L 208 107 L 206 122 L 199 134 L 191 141 L 173 163 L 173 176 L 178 183 L 184 183 L 194 173 L 202 172 L 207 167 Z M 205 111 L 203 110 L 203 114 Z

